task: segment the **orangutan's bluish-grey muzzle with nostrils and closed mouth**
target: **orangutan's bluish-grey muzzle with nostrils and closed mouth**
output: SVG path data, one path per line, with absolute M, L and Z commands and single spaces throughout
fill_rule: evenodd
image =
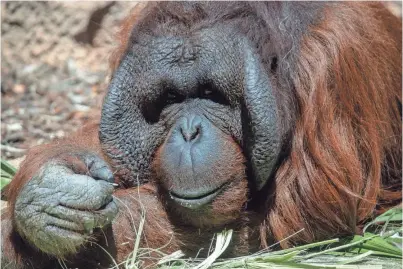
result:
M 225 147 L 226 137 L 207 118 L 211 109 L 217 107 L 218 110 L 219 106 L 209 101 L 191 100 L 185 107 L 159 156 L 162 174 L 166 176 L 162 181 L 164 187 L 170 191 L 172 199 L 189 200 L 188 205 L 192 207 L 197 205 L 193 205 L 192 200 L 210 202 L 226 183 L 217 173 L 225 169 L 219 167 L 220 161 L 228 160 L 226 155 L 231 151 Z

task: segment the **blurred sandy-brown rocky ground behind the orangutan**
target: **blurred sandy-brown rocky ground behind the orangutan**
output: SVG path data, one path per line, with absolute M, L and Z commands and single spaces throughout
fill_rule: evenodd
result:
M 385 2 L 401 16 L 401 2 Z M 136 2 L 1 2 L 1 156 L 63 137 L 97 113 L 120 21 Z

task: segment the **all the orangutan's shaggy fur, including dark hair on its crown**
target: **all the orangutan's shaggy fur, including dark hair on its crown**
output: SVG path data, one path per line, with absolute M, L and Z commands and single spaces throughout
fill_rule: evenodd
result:
M 260 198 L 264 203 L 260 212 L 255 212 L 262 217 L 245 218 L 251 234 L 259 231 L 256 237 L 266 247 L 269 241 L 280 241 L 304 229 L 282 241 L 281 245 L 288 247 L 359 232 L 360 225 L 375 212 L 401 202 L 401 22 L 381 4 L 329 2 L 318 7 L 320 16 L 306 18 L 307 27 L 303 27 L 304 22 L 296 23 L 292 16 L 272 21 L 271 13 L 281 11 L 281 3 L 273 4 L 273 10 L 265 5 L 237 2 L 227 5 L 225 12 L 200 8 L 189 14 L 178 12 L 183 9 L 181 3 L 141 3 L 123 24 L 111 69 L 116 69 L 130 38 L 135 37 L 134 25 L 176 24 L 180 25 L 178 31 L 185 31 L 199 21 L 207 26 L 220 22 L 236 24 L 257 44 L 267 72 L 273 72 L 273 84 L 284 89 L 276 92 L 276 98 L 280 124 L 284 130 L 290 130 L 284 137 L 285 154 L 274 182 L 263 191 L 251 193 L 252 200 Z M 319 4 L 311 5 L 316 8 Z M 205 22 L 203 18 L 209 20 Z M 282 57 L 273 61 L 272 51 Z M 70 138 L 30 151 L 9 188 L 11 216 L 19 190 L 47 160 L 63 160 L 65 152 L 79 149 L 102 154 L 98 124 L 86 128 Z M 246 188 L 246 184 L 242 186 Z M 184 247 L 186 242 L 199 238 L 198 231 L 171 227 L 163 208 L 152 206 L 157 203 L 155 188 L 140 190 L 121 190 L 116 197 L 129 201 L 133 193 L 143 192 L 146 199 L 153 201 L 149 203 L 149 213 L 153 215 L 147 217 L 146 228 L 150 247 L 176 237 L 170 248 L 174 251 L 175 247 Z M 246 195 L 240 189 L 236 193 Z M 138 201 L 131 203 L 133 209 Z M 125 213 L 122 214 L 120 218 L 124 219 Z M 125 234 L 134 225 L 127 227 L 125 221 L 119 222 L 118 218 L 114 225 L 117 241 L 126 240 Z M 166 224 L 165 228 L 157 223 Z M 250 251 L 244 247 L 247 232 L 238 234 L 242 234 L 237 241 L 241 243 L 235 248 Z M 123 259 L 128 251 L 129 248 L 121 247 L 118 257 Z

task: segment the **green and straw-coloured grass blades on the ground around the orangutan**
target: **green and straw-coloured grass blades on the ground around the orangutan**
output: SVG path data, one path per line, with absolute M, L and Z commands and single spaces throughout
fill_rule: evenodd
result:
M 1 189 L 15 175 L 16 169 L 6 161 L 1 161 Z M 285 250 L 263 250 L 248 256 L 220 259 L 231 244 L 232 230 L 224 230 L 212 239 L 215 247 L 205 259 L 188 258 L 180 252 L 167 255 L 160 249 L 140 248 L 140 238 L 144 227 L 145 212 L 137 227 L 134 249 L 122 264 L 126 269 L 141 267 L 142 257 L 150 253 L 159 256 L 161 269 L 226 269 L 226 268 L 402 268 L 402 208 L 396 207 L 379 215 L 364 227 L 363 235 L 334 238 L 306 244 Z M 270 249 L 270 248 L 269 248 Z M 112 258 L 112 257 L 111 257 Z M 354 265 L 349 267 L 348 265 Z M 374 264 L 374 266 L 371 266 Z M 382 265 L 382 266 L 381 266 Z

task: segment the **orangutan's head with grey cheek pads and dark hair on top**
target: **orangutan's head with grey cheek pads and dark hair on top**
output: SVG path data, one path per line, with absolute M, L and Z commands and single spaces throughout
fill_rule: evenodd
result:
M 117 174 L 133 186 L 155 178 L 156 170 L 170 204 L 193 209 L 216 201 L 245 173 L 250 191 L 268 185 L 297 115 L 292 98 L 284 99 L 292 96 L 287 57 L 320 7 L 167 2 L 152 8 L 154 15 L 133 27 L 103 106 L 99 137 Z M 290 16 L 303 19 L 287 32 L 279 22 Z M 243 164 L 229 157 L 238 151 Z M 243 171 L 234 176 L 225 168 L 233 166 Z

